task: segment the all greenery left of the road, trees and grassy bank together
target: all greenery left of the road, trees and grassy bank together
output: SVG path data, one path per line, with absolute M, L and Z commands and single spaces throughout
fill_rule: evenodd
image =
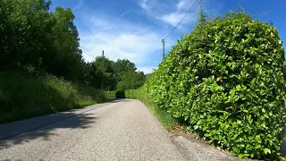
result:
M 86 63 L 70 8 L 50 0 L 0 0 L 0 122 L 106 101 L 101 90 L 136 89 L 127 59 Z M 131 81 L 130 81 L 131 80 Z

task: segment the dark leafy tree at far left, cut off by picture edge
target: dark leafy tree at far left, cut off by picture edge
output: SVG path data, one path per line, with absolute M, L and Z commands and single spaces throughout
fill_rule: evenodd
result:
M 50 1 L 1 0 L 1 66 L 0 69 L 41 65 L 41 55 L 50 48 L 52 23 Z

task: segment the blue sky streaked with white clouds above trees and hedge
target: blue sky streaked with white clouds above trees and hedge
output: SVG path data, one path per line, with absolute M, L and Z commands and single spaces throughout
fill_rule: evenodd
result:
M 80 48 L 90 55 L 105 55 L 112 60 L 130 59 L 145 73 L 162 61 L 162 39 L 181 20 L 196 0 L 52 0 L 55 6 L 71 8 L 80 33 Z M 203 0 L 210 15 L 230 12 L 240 5 L 261 21 L 273 21 L 282 40 L 286 40 L 285 0 Z M 168 51 L 196 24 L 198 7 L 166 39 Z M 285 45 L 284 45 L 285 47 Z M 92 56 L 83 53 L 87 62 Z

